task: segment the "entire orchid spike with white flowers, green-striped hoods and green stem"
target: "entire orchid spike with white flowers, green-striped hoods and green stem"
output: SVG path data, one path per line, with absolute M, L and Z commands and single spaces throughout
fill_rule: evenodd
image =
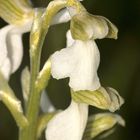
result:
M 114 24 L 88 13 L 80 0 L 53 0 L 47 8 L 34 8 L 29 0 L 0 0 L 0 17 L 8 23 L 0 29 L 0 100 L 19 127 L 19 140 L 37 140 L 44 130 L 46 140 L 92 140 L 117 123 L 125 125 L 113 113 L 123 98 L 115 89 L 102 87 L 97 74 L 100 52 L 96 39 L 117 39 Z M 49 27 L 68 21 L 66 48 L 50 55 L 40 70 Z M 26 67 L 21 74 L 23 109 L 8 81 L 20 67 L 26 32 L 30 32 L 30 70 Z M 69 78 L 71 103 L 64 111 L 55 109 L 45 91 L 51 76 Z M 88 116 L 89 105 L 110 113 Z

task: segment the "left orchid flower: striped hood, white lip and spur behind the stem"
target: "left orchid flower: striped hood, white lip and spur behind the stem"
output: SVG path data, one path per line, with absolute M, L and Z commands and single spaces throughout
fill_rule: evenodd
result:
M 0 29 L 0 70 L 7 80 L 21 64 L 22 34 L 31 30 L 34 11 L 29 0 L 0 0 L 0 17 L 9 24 Z M 70 18 L 68 11 L 63 9 L 51 24 L 67 22 Z

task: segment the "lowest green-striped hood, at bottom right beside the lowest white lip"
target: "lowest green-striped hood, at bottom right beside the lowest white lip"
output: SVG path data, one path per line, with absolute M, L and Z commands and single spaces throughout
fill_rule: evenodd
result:
M 111 133 L 110 130 L 116 125 L 125 126 L 123 118 L 117 114 L 112 113 L 100 113 L 92 115 L 88 119 L 88 123 L 85 129 L 83 140 L 92 140 L 103 132 Z M 108 134 L 106 133 L 105 136 Z

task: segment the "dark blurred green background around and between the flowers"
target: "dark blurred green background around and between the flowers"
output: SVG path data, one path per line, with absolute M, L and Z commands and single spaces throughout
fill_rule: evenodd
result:
M 32 0 L 35 7 L 47 6 L 47 0 Z M 103 86 L 119 91 L 125 104 L 119 114 L 126 120 L 126 127 L 117 127 L 105 140 L 140 140 L 140 0 L 84 0 L 87 10 L 111 20 L 119 29 L 118 40 L 97 40 L 101 53 L 99 77 Z M 0 19 L 0 28 L 6 23 Z M 42 65 L 54 51 L 65 47 L 65 33 L 69 23 L 50 28 L 42 53 Z M 29 34 L 23 36 L 24 58 L 20 69 L 12 75 L 10 85 L 22 99 L 20 74 L 29 65 Z M 57 108 L 69 105 L 68 79 L 50 80 L 48 94 Z M 91 108 L 94 113 L 97 109 Z M 18 129 L 11 114 L 0 102 L 0 140 L 17 140 Z

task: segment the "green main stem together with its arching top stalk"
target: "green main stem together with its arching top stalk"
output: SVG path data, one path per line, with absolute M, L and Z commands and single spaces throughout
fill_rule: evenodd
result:
M 35 83 L 40 69 L 41 50 L 52 18 L 65 6 L 65 1 L 52 1 L 44 14 L 42 11 L 35 13 L 35 20 L 30 35 L 31 81 L 26 112 L 29 125 L 20 130 L 19 140 L 37 140 L 37 120 L 39 116 L 41 90 L 37 88 Z

